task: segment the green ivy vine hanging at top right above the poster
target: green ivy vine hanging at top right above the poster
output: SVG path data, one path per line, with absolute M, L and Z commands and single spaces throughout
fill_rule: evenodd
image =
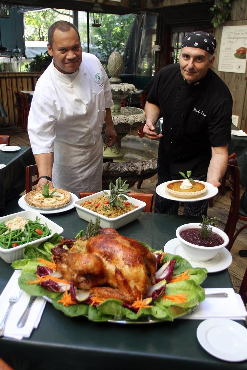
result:
M 211 2 L 211 0 L 202 0 L 203 2 Z M 213 6 L 209 9 L 212 12 L 214 28 L 223 24 L 228 19 L 231 19 L 231 5 L 234 0 L 214 0 Z

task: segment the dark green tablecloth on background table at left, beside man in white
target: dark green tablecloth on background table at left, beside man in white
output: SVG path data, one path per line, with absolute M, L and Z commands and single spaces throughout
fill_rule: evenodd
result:
M 0 208 L 25 190 L 26 166 L 34 164 L 34 155 L 30 147 L 21 147 L 16 152 L 0 151 L 0 163 L 6 167 L 0 169 Z

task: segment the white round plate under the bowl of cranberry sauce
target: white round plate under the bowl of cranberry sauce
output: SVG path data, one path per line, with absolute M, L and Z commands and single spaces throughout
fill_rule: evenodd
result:
M 190 262 L 192 267 L 194 268 L 204 267 L 207 269 L 208 273 L 219 272 L 219 271 L 223 271 L 227 269 L 231 265 L 231 262 L 233 260 L 229 250 L 226 248 L 223 248 L 221 249 L 220 253 L 217 254 L 217 256 L 215 256 L 214 258 L 211 258 L 210 260 L 206 262 L 194 261 L 188 258 L 178 238 L 169 240 L 164 246 L 164 252 L 168 252 L 171 254 L 176 254 L 178 256 L 181 256 L 187 259 L 188 262 Z

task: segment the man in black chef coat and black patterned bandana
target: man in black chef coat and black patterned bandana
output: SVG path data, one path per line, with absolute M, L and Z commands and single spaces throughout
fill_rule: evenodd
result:
M 143 132 L 160 138 L 158 184 L 181 179 L 192 171 L 194 180 L 220 186 L 228 162 L 232 97 L 226 84 L 210 67 L 216 40 L 210 33 L 188 34 L 181 44 L 179 64 L 162 68 L 153 78 L 145 105 Z M 161 134 L 155 124 L 163 115 Z M 178 202 L 156 195 L 155 212 L 176 214 Z M 186 202 L 184 215 L 207 213 L 208 201 Z

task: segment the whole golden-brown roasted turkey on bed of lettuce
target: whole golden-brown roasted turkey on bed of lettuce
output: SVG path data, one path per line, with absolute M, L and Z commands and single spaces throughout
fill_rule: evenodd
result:
M 52 249 L 57 271 L 92 295 L 133 303 L 155 284 L 157 259 L 136 240 L 101 229 L 88 240 L 64 239 Z M 63 248 L 67 245 L 69 249 Z

